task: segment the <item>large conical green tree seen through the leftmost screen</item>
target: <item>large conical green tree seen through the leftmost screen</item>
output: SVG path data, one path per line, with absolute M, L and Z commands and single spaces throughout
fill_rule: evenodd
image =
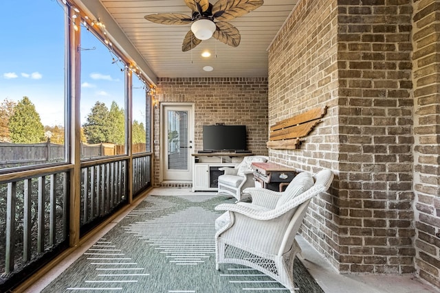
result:
M 39 113 L 28 97 L 14 106 L 9 118 L 9 131 L 13 143 L 39 143 L 44 140 L 44 128 Z

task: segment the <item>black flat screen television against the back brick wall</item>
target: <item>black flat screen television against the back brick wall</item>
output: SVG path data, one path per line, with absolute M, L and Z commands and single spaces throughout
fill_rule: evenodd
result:
M 246 126 L 208 125 L 203 126 L 203 150 L 247 150 Z

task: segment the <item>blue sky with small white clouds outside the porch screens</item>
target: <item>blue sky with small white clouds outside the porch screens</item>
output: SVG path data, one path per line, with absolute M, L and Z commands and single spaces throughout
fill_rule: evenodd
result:
M 0 102 L 29 97 L 48 126 L 64 124 L 64 17 L 56 0 L 0 0 Z M 96 101 L 108 108 L 112 101 L 124 107 L 124 72 L 122 63 L 112 64 L 116 57 L 84 27 L 81 38 L 84 123 Z M 133 78 L 133 86 L 140 85 Z M 133 95 L 144 96 L 139 89 Z M 144 120 L 139 110 L 144 106 L 136 99 L 133 104 L 134 119 Z

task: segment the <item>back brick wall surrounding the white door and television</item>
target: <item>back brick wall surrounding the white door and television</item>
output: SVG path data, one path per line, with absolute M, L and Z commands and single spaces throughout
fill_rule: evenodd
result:
M 267 155 L 267 78 L 159 78 L 159 102 L 195 106 L 195 151 L 203 149 L 202 126 L 245 125 L 248 149 Z M 159 110 L 154 115 L 154 185 L 160 185 Z

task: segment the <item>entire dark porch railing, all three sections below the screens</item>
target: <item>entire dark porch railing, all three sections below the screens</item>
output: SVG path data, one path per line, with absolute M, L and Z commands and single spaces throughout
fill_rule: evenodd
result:
M 80 223 L 80 235 L 151 186 L 151 156 L 113 156 L 80 164 L 80 218 L 74 219 Z M 69 190 L 73 173 L 74 165 L 66 164 L 0 174 L 0 289 L 68 248 L 68 219 L 75 212 Z

